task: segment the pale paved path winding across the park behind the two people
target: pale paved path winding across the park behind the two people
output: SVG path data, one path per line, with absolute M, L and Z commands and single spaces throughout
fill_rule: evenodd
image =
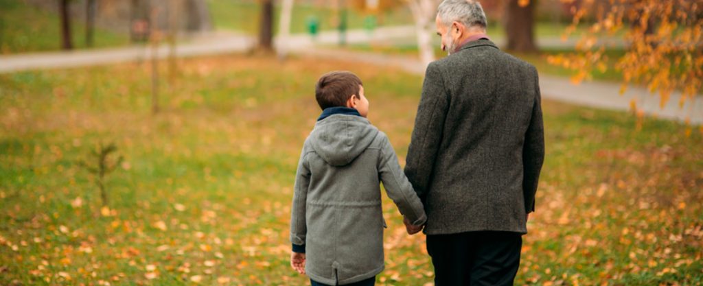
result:
M 365 43 L 369 41 L 392 42 L 412 37 L 414 29 L 411 26 L 383 27 L 370 34 L 364 30 L 352 30 L 347 33 L 347 42 Z M 316 39 L 305 34 L 293 35 L 283 43 L 277 39 L 277 45 L 285 47 L 290 53 L 299 53 L 304 56 L 352 60 L 372 65 L 392 65 L 414 74 L 424 74 L 425 67 L 416 58 L 408 56 L 390 56 L 376 53 L 362 53 L 354 51 L 341 51 L 334 49 L 316 48 L 336 44 L 339 36 L 336 32 L 322 32 Z M 501 45 L 502 39 L 494 39 Z M 559 44 L 562 43 L 562 44 Z M 562 42 L 557 39 L 540 41 L 542 45 L 569 46 L 573 42 Z M 249 51 L 254 47 L 254 40 L 243 34 L 214 33 L 207 37 L 191 39 L 187 44 L 179 44 L 176 54 L 179 57 L 213 55 L 219 53 L 236 53 Z M 0 73 L 18 72 L 22 70 L 37 70 L 46 68 L 81 67 L 88 65 L 104 65 L 133 60 L 150 58 L 151 49 L 145 46 L 131 46 L 126 48 L 111 48 L 89 51 L 70 51 L 52 53 L 28 53 L 14 56 L 0 56 Z M 168 56 L 168 47 L 161 46 L 157 49 L 157 56 Z M 565 77 L 553 77 L 542 74 L 540 88 L 544 98 L 560 100 L 566 103 L 604 108 L 609 110 L 629 110 L 631 101 L 635 100 L 638 108 L 647 115 L 660 118 L 674 119 L 691 124 L 703 124 L 703 98 L 698 96 L 693 103 L 685 109 L 678 108 L 681 93 L 674 93 L 664 109 L 659 107 L 659 97 L 654 96 L 646 89 L 631 87 L 624 95 L 619 94 L 620 84 L 612 82 L 583 82 L 574 86 Z M 419 91 L 418 91 L 419 92 Z

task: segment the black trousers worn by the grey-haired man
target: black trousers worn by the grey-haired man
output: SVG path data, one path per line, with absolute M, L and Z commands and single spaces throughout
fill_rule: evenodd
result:
M 512 285 L 520 266 L 522 235 L 474 231 L 427 235 L 434 286 Z

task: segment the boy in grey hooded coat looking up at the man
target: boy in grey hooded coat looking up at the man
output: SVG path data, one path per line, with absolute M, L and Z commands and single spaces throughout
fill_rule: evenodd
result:
M 366 119 L 359 77 L 324 74 L 315 98 L 323 112 L 305 140 L 295 176 L 290 264 L 307 273 L 313 286 L 374 285 L 384 267 L 380 182 L 416 228 L 427 219 L 423 204 L 386 135 Z

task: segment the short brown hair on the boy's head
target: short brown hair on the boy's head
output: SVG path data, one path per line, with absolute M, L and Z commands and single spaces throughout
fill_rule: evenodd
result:
M 359 86 L 363 86 L 356 74 L 347 71 L 334 71 L 323 74 L 315 84 L 315 99 L 322 110 L 337 106 L 347 106 L 347 100 L 359 96 Z

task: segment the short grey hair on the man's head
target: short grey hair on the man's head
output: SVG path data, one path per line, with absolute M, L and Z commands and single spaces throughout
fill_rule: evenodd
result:
M 449 26 L 452 22 L 460 22 L 466 27 L 486 29 L 486 13 L 481 4 L 473 0 L 444 0 L 437 7 L 437 16 L 442 25 Z

